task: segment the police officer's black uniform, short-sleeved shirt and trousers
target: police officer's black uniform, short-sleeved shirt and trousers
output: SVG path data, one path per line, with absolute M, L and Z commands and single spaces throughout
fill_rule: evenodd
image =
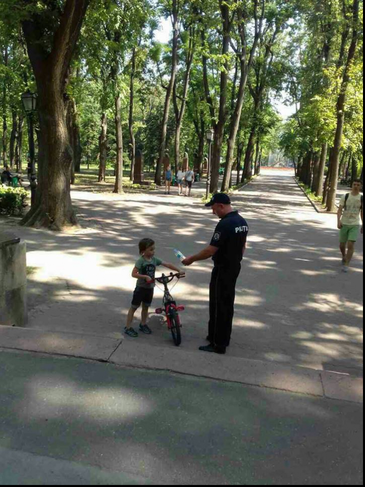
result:
M 225 348 L 230 343 L 236 282 L 247 234 L 247 221 L 238 211 L 232 211 L 217 224 L 210 242 L 218 250 L 213 256 L 214 269 L 209 287 L 208 337 L 217 348 Z

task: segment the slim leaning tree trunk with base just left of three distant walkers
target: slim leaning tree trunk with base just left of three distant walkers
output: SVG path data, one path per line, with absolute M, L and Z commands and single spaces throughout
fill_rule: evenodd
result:
M 178 0 L 172 0 L 171 19 L 172 19 L 173 36 L 172 36 L 171 77 L 166 91 L 165 108 L 164 108 L 164 115 L 162 120 L 160 154 L 157 161 L 156 174 L 155 174 L 155 183 L 158 184 L 159 186 L 161 185 L 162 161 L 163 158 L 165 157 L 165 152 L 166 152 L 167 122 L 168 122 L 169 111 L 170 111 L 171 95 L 175 84 L 176 71 L 177 71 L 177 49 L 178 49 L 178 35 L 179 35 L 178 14 L 179 14 Z

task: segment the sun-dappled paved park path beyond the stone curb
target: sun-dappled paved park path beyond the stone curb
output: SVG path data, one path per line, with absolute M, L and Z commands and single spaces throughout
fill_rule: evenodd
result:
M 29 327 L 119 338 L 139 239 L 154 238 L 157 255 L 175 263 L 174 247 L 189 255 L 209 242 L 217 220 L 201 204 L 204 183 L 193 193 L 73 191 L 81 230 L 21 228 L 31 267 Z M 336 215 L 317 214 L 291 171 L 264 171 L 233 202 L 250 234 L 229 354 L 362 375 L 362 237 L 353 269 L 342 274 Z M 195 264 L 173 289 L 186 305 L 182 349 L 205 343 L 210 271 L 207 261 Z M 157 290 L 156 307 L 161 297 Z M 151 326 L 153 335 L 138 343 L 173 346 L 161 317 Z

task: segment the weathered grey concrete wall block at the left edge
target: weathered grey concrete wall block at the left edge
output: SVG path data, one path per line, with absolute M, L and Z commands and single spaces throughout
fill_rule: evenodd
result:
M 25 242 L 0 239 L 0 325 L 26 325 L 26 282 Z

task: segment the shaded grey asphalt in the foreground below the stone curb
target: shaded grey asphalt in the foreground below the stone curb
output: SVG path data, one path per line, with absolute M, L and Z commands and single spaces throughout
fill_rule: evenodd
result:
M 362 406 L 0 352 L 2 485 L 361 485 Z

